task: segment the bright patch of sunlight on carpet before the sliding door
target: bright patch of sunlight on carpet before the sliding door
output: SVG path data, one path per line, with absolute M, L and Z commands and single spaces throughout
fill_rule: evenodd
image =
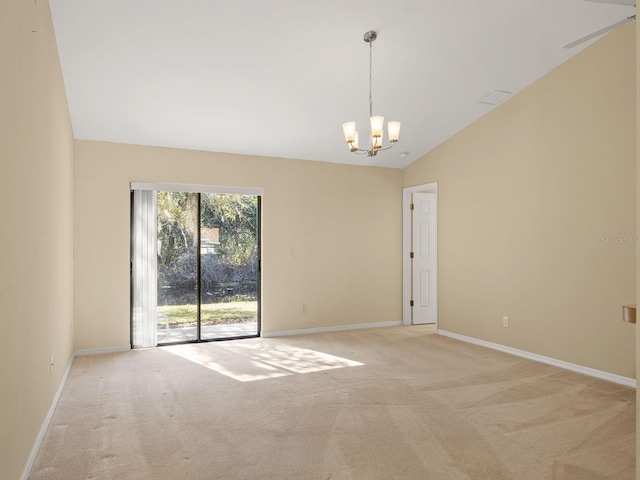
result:
M 240 382 L 364 365 L 354 360 L 307 348 L 275 344 L 264 339 L 161 348 Z

